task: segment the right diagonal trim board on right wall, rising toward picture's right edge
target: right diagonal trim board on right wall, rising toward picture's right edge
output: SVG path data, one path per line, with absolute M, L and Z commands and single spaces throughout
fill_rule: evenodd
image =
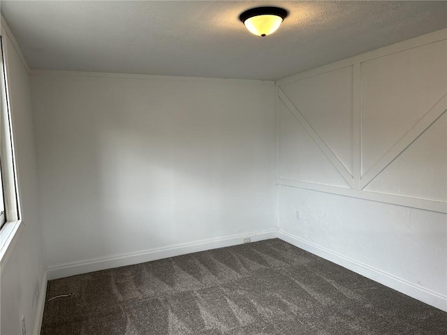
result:
M 365 188 L 374 178 L 376 178 L 388 165 L 402 154 L 420 135 L 422 135 L 434 121 L 439 119 L 447 110 L 447 94 L 439 100 L 425 116 L 418 121 L 396 144 L 389 149 L 386 154 L 362 177 L 360 188 Z

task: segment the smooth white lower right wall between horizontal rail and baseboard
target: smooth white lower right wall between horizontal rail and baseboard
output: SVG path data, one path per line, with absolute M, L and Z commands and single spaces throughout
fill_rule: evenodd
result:
M 446 220 L 434 211 L 279 186 L 280 230 L 436 292 L 444 308 Z

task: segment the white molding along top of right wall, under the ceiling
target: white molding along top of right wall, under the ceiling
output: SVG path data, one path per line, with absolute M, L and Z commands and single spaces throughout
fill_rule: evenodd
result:
M 334 63 L 323 65 L 318 68 L 313 68 L 312 70 L 307 70 L 305 72 L 298 73 L 296 75 L 291 75 L 289 77 L 282 78 L 276 81 L 276 85 L 282 86 L 285 84 L 290 84 L 291 82 L 296 82 L 298 80 L 314 77 L 315 75 L 321 75 L 323 73 L 338 70 L 340 68 L 346 68 L 347 66 L 353 66 L 356 63 L 370 61 L 372 59 L 388 56 L 390 54 L 395 54 L 397 52 L 402 52 L 404 50 L 413 49 L 414 47 L 422 47 L 423 45 L 439 42 L 439 40 L 445 40 L 446 38 L 447 38 L 447 29 L 441 29 L 429 34 L 411 38 L 409 40 L 404 40 L 403 42 L 388 45 L 386 47 L 381 47 L 379 49 L 372 50 L 370 52 L 365 52 L 364 54 L 358 54 L 357 56 L 351 58 L 336 61 Z

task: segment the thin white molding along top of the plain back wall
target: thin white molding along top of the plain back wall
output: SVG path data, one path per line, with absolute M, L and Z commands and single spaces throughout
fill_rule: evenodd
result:
M 253 80 L 237 78 L 214 78 L 214 77 L 186 77 L 181 75 L 138 75 L 133 73 L 108 73 L 89 71 L 65 71 L 65 70 L 37 70 L 31 69 L 31 75 L 60 75 L 69 77 L 94 77 L 94 78 L 115 78 L 115 79 L 135 79 L 135 80 L 168 80 L 174 82 L 221 82 L 232 84 L 256 84 L 274 87 L 273 80 Z

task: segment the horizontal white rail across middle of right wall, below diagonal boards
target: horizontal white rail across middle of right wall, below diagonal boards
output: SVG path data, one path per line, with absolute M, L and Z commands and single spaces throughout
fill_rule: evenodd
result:
M 363 200 L 371 200 L 376 202 L 384 202 L 386 204 L 398 204 L 404 207 L 412 207 L 418 209 L 425 209 L 427 211 L 438 211 L 440 213 L 447 213 L 447 202 L 436 200 L 427 200 L 420 198 L 404 197 L 402 195 L 393 195 L 372 191 L 360 191 L 352 188 L 343 188 L 339 186 L 314 184 L 307 181 L 298 181 L 291 179 L 278 178 L 277 184 L 282 186 L 291 186 L 297 188 L 304 188 L 306 190 L 318 191 L 323 193 L 331 193 L 336 195 L 344 195 L 351 198 L 359 198 Z

